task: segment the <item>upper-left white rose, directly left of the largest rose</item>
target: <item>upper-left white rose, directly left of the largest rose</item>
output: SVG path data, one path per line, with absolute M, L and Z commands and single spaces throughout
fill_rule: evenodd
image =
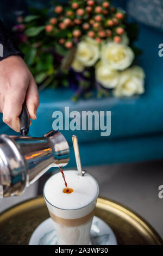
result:
M 99 58 L 98 42 L 90 38 L 80 41 L 75 58 L 84 66 L 93 66 Z

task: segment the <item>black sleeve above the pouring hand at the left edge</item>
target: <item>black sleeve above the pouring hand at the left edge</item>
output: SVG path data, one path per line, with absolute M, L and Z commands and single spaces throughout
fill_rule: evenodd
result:
M 12 36 L 9 34 L 7 29 L 4 27 L 3 22 L 0 20 L 0 60 L 7 58 L 11 55 L 20 55 L 21 57 L 24 54 L 18 49 Z

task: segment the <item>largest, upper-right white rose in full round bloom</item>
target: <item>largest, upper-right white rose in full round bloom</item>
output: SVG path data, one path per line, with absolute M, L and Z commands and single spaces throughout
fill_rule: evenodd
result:
M 109 42 L 102 47 L 101 57 L 103 63 L 110 65 L 112 69 L 124 70 L 133 62 L 134 52 L 127 45 Z

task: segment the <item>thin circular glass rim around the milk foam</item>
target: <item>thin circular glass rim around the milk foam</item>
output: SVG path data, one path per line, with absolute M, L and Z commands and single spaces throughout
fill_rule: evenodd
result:
M 65 170 L 64 172 L 67 172 L 68 170 Z M 77 170 L 74 170 L 74 171 L 76 171 L 77 172 Z M 59 173 L 59 172 L 58 172 Z M 89 172 L 86 172 L 85 171 L 85 173 L 88 173 L 90 176 L 92 176 Z M 57 173 L 55 173 L 55 174 L 57 174 Z M 54 174 L 54 175 L 55 175 Z M 54 175 L 52 175 L 52 176 L 54 176 Z M 49 179 L 51 179 L 52 178 L 52 176 L 51 177 L 49 177 L 48 179 L 47 179 L 47 181 L 49 180 Z M 64 208 L 59 208 L 59 207 L 57 207 L 57 206 L 55 206 L 55 205 L 53 205 L 52 203 L 50 203 L 48 200 L 47 200 L 47 198 L 46 198 L 46 196 L 45 196 L 45 193 L 44 193 L 44 191 L 45 191 L 45 186 L 46 186 L 46 184 L 47 184 L 47 181 L 45 182 L 45 184 L 44 184 L 44 186 L 43 186 L 43 197 L 44 197 L 44 199 L 45 199 L 45 201 L 47 201 L 49 204 L 51 204 L 53 207 L 55 207 L 55 208 L 57 208 L 57 209 L 59 209 L 59 210 L 64 210 L 64 211 L 74 211 L 74 210 L 80 210 L 80 209 L 83 209 L 83 208 L 85 208 L 86 206 L 88 206 L 88 205 L 90 205 L 95 199 L 97 199 L 98 198 L 98 195 L 99 195 L 99 186 L 98 186 L 98 183 L 97 183 L 97 180 L 92 176 L 92 178 L 95 180 L 95 182 L 96 182 L 96 185 L 97 185 L 97 194 L 96 194 L 96 197 L 95 198 L 93 198 L 93 200 L 89 203 L 89 204 L 86 204 L 85 206 L 82 206 L 82 207 L 80 207 L 80 208 L 75 208 L 75 209 L 64 209 Z

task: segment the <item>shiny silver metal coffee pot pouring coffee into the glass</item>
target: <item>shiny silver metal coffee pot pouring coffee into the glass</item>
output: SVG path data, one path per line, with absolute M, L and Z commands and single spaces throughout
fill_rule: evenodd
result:
M 69 146 L 59 131 L 41 138 L 0 135 L 0 198 L 20 195 L 49 168 L 68 161 Z

